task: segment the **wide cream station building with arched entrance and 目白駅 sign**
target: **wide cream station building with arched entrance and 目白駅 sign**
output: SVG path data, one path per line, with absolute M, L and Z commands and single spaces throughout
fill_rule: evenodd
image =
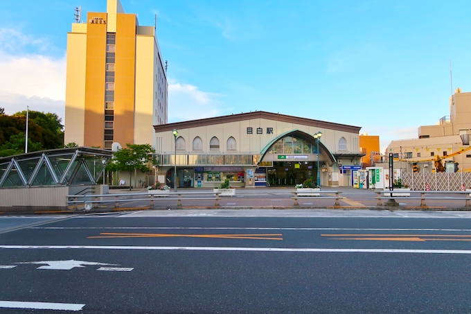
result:
M 318 169 L 321 186 L 351 186 L 351 171 L 361 168 L 364 155 L 360 127 L 263 111 L 154 125 L 154 130 L 155 175 L 178 187 L 217 187 L 226 178 L 235 187 L 294 186 L 317 181 Z M 313 135 L 319 132 L 317 141 Z

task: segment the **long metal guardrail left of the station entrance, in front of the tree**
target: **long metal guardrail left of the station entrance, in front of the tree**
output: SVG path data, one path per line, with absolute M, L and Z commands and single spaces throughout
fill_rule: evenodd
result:
M 136 202 L 146 201 L 150 202 L 149 207 L 154 208 L 154 202 L 157 200 L 176 200 L 177 207 L 181 207 L 181 201 L 184 200 L 215 200 L 215 207 L 219 207 L 220 198 L 219 191 L 217 192 L 177 192 L 168 194 L 152 194 L 152 193 L 116 193 L 116 194 L 90 194 L 90 195 L 66 195 L 67 204 L 73 206 L 73 210 L 78 210 L 78 205 L 83 204 L 84 209 L 90 210 L 93 205 L 114 203 L 114 208 L 119 208 L 120 202 Z M 190 195 L 190 197 L 187 197 Z M 212 198 L 195 198 L 193 195 L 214 195 Z M 165 198 L 162 198 L 166 196 Z M 87 198 L 89 200 L 87 200 Z M 109 198 L 109 199 L 107 199 Z M 72 200 L 70 200 L 72 199 Z M 82 199 L 82 200 L 80 200 Z

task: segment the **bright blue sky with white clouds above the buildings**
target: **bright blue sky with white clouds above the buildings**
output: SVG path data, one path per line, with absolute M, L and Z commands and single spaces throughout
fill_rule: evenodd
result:
M 471 91 L 471 1 L 121 0 L 154 25 L 168 60 L 169 122 L 263 110 L 361 126 L 393 139 L 450 114 Z M 0 6 L 0 107 L 64 116 L 73 9 L 106 0 Z

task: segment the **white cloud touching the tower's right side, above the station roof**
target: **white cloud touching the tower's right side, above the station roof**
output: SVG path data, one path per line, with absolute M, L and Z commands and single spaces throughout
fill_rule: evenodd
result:
M 230 110 L 217 101 L 218 94 L 198 90 L 198 87 L 180 83 L 168 85 L 168 121 L 186 121 L 220 116 Z M 222 110 L 224 107 L 224 110 Z

